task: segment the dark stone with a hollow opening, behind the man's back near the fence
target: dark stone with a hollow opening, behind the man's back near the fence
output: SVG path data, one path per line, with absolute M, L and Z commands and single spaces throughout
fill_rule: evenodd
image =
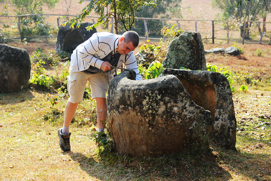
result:
M 72 53 L 78 45 L 88 40 L 93 33 L 97 32 L 95 28 L 90 31 L 86 29 L 86 27 L 92 25 L 92 23 L 82 23 L 79 28 L 77 28 L 76 25 L 77 24 L 74 25 L 74 28 L 71 28 L 70 24 L 59 28 L 55 46 L 57 52 L 66 51 Z

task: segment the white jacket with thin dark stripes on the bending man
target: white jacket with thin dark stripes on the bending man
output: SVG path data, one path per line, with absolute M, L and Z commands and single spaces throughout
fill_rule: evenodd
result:
M 78 45 L 71 55 L 70 71 L 78 72 L 88 69 L 88 67 L 94 66 L 101 69 L 102 58 L 107 56 L 111 51 L 116 49 L 120 35 L 99 32 L 94 33 L 87 41 Z M 142 80 L 133 51 L 127 55 L 123 54 L 120 56 L 117 66 L 120 67 L 125 64 L 125 67 L 132 69 L 136 73 L 136 80 Z M 112 69 L 107 73 L 108 82 L 110 82 L 115 75 L 115 70 Z

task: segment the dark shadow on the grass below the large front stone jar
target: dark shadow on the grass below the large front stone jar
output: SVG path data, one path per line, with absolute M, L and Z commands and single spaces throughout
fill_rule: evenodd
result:
M 102 180 L 231 179 L 231 174 L 216 163 L 217 158 L 213 154 L 132 158 L 106 149 L 94 157 L 73 152 L 68 154 L 88 175 Z

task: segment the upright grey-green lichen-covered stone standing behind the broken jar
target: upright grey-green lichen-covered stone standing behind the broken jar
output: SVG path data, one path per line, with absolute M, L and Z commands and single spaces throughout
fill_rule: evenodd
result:
M 172 40 L 163 65 L 166 68 L 207 70 L 202 39 L 199 33 L 185 31 Z

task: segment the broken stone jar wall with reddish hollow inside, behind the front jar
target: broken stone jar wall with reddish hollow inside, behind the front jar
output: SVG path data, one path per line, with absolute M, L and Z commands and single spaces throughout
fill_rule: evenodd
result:
M 212 116 L 212 138 L 227 149 L 235 149 L 236 119 L 231 88 L 225 76 L 211 71 L 164 69 L 161 77 L 175 75 L 191 99 Z

